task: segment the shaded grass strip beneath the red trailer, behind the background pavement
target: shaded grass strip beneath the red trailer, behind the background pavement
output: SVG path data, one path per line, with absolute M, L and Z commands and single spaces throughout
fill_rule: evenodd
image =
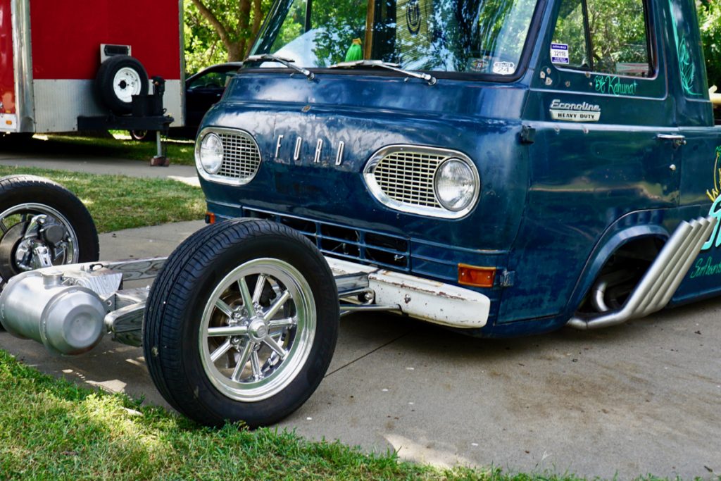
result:
M 120 159 L 136 159 L 149 162 L 156 154 L 155 142 L 131 141 L 126 133 L 117 132 L 114 138 L 86 136 L 36 135 L 22 141 L 9 138 L 4 142 L 4 152 L 30 152 L 33 154 L 57 154 L 82 156 L 110 156 Z M 172 164 L 195 165 L 193 141 L 167 139 L 166 156 Z

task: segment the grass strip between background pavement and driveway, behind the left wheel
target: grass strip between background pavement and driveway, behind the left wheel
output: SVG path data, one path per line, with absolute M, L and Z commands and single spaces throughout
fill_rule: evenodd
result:
M 205 215 L 200 187 L 175 180 L 0 166 L 0 176 L 12 174 L 40 175 L 67 187 L 87 206 L 98 232 L 193 221 Z

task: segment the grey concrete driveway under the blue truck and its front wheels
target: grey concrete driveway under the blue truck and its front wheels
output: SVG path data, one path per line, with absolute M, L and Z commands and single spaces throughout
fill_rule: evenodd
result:
M 101 256 L 167 255 L 203 226 L 103 234 Z M 721 314 L 707 301 L 609 330 L 478 340 L 388 314 L 340 321 L 327 376 L 280 424 L 404 459 L 629 479 L 721 473 Z M 138 348 L 104 340 L 53 358 L 0 333 L 0 348 L 79 384 L 167 406 Z

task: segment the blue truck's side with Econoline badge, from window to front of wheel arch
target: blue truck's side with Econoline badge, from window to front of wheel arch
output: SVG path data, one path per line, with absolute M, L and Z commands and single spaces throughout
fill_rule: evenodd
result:
M 559 0 L 539 35 L 523 122 L 530 183 L 500 322 L 565 309 L 606 229 L 676 208 L 679 172 L 660 2 Z M 563 266 L 559 268 L 559 266 Z

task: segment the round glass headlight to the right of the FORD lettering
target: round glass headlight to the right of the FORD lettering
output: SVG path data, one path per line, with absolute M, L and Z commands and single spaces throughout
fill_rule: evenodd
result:
M 438 167 L 433 180 L 435 196 L 448 211 L 463 211 L 476 198 L 478 182 L 476 175 L 461 159 L 448 159 Z

